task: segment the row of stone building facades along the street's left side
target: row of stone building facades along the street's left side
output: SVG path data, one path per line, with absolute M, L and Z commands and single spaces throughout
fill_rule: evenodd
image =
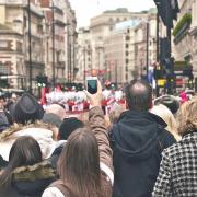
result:
M 18 89 L 30 79 L 37 89 L 37 76 L 51 84 L 73 79 L 76 26 L 68 0 L 0 0 L 0 79 Z

